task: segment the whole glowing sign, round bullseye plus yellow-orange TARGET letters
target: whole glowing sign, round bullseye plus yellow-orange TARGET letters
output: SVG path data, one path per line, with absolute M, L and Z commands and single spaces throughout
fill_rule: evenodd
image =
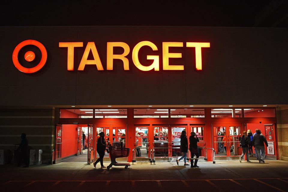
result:
M 38 47 L 41 51 L 42 57 L 41 61 L 32 68 L 26 68 L 19 63 L 18 54 L 20 49 L 22 49 L 26 45 L 34 45 Z M 184 70 L 183 63 L 180 65 L 173 65 L 169 63 L 170 58 L 182 58 L 181 52 L 171 52 L 169 48 L 172 47 L 184 47 L 184 42 L 162 42 L 162 51 L 158 51 L 158 47 L 150 41 L 141 41 L 132 49 L 132 61 L 139 70 L 141 71 L 150 71 L 155 70 L 159 71 L 160 69 L 160 59 L 162 57 L 162 69 L 163 70 Z M 144 66 L 140 63 L 138 54 L 139 50 L 142 47 L 150 47 L 152 51 L 158 51 L 158 55 L 146 55 L 147 60 L 153 60 L 152 64 L 149 66 Z M 76 47 L 83 47 L 83 42 L 59 42 L 59 47 L 67 48 L 67 70 L 74 70 L 74 49 Z M 116 54 L 113 52 L 114 47 L 121 47 L 124 49 L 122 54 Z M 187 48 L 195 48 L 195 69 L 202 70 L 202 48 L 210 47 L 209 42 L 186 42 Z M 89 53 L 92 53 L 93 59 L 88 59 Z M 107 42 L 107 70 L 113 70 L 113 60 L 120 59 L 123 61 L 124 70 L 130 70 L 129 68 L 129 59 L 127 58 L 130 52 L 130 47 L 128 44 L 124 42 Z M 26 61 L 31 62 L 35 59 L 35 53 L 33 51 L 27 51 L 24 55 Z M 19 43 L 12 54 L 12 60 L 15 67 L 22 71 L 23 73 L 35 73 L 39 71 L 46 63 L 47 60 L 47 51 L 43 44 L 39 41 L 35 40 L 26 40 Z M 131 60 L 130 60 L 131 61 Z M 85 51 L 82 55 L 82 59 L 79 63 L 78 69 L 79 71 L 83 71 L 86 65 L 95 65 L 97 70 L 104 70 L 102 65 L 102 61 L 99 57 L 97 48 L 95 46 L 95 42 L 88 42 Z

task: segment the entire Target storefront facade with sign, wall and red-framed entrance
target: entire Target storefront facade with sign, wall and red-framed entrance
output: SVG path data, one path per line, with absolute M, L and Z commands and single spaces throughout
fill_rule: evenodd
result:
M 286 29 L 2 27 L 0 32 L 3 149 L 12 150 L 26 132 L 30 146 L 44 149 L 47 162 L 55 160 L 62 126 L 74 133 L 62 138 L 68 143 L 61 143 L 57 157 L 65 158 L 80 148 L 77 128 L 87 127 L 91 150 L 97 132 L 104 131 L 111 143 L 125 139 L 128 161 L 153 159 L 153 149 L 156 161 L 173 161 L 180 155 L 178 133 L 185 130 L 198 133 L 201 156 L 213 148 L 215 160 L 235 160 L 241 155 L 239 136 L 259 128 L 271 138 L 267 156 L 287 156 Z M 72 137 L 68 152 L 63 145 L 70 146 Z M 136 148 L 145 155 L 139 157 L 138 150 L 133 157 Z M 95 152 L 90 156 L 97 158 Z M 206 158 L 212 161 L 212 150 Z

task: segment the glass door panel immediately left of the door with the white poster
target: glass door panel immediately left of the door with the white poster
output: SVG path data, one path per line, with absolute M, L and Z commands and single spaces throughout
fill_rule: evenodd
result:
M 168 126 L 153 127 L 155 161 L 169 161 Z M 170 136 L 171 137 L 171 136 Z

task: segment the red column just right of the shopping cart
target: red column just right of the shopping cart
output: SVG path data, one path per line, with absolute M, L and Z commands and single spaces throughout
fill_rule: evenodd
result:
M 130 148 L 130 154 L 128 156 L 128 162 L 132 161 L 132 150 L 134 149 L 134 141 L 133 138 L 135 136 L 134 131 L 134 122 L 133 122 L 134 111 L 133 108 L 127 109 L 127 132 L 128 132 L 128 148 Z

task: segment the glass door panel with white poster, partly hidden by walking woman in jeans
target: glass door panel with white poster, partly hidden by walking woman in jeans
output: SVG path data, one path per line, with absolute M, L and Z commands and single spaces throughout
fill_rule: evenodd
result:
M 181 157 L 183 153 L 180 152 L 180 135 L 182 131 L 186 131 L 186 127 L 171 127 L 171 152 L 173 157 Z M 187 133 L 186 133 L 187 136 Z M 178 158 L 176 158 L 178 159 Z M 184 160 L 183 160 L 184 161 Z

